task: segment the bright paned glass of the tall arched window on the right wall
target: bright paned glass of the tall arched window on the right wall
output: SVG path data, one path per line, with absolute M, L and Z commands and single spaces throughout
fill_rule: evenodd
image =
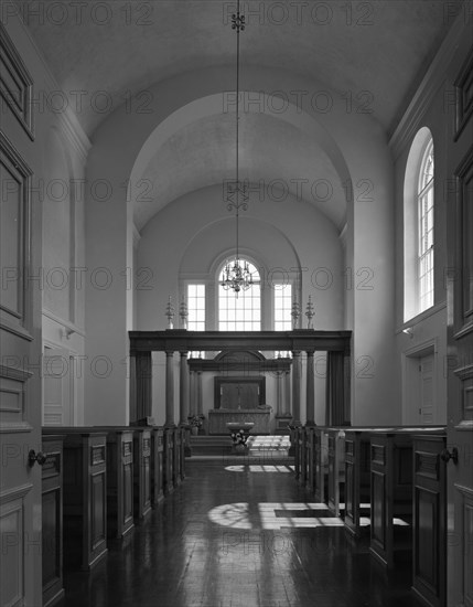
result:
M 433 306 L 433 141 L 429 140 L 419 170 L 418 298 L 419 312 Z

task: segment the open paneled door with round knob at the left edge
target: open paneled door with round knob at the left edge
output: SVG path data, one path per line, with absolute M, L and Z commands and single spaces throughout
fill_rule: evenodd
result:
M 7 46 L 20 62 L 11 41 Z M 33 450 L 41 452 L 42 443 L 41 204 L 30 200 L 33 142 L 12 115 L 2 118 L 0 604 L 41 605 L 41 467 L 29 459 Z

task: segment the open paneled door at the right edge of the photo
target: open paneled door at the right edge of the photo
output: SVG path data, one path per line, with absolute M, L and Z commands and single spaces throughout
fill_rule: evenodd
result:
M 466 28 L 466 25 L 465 25 Z M 473 51 L 471 30 L 452 62 L 456 108 L 448 137 L 449 607 L 473 605 Z M 459 72 L 460 67 L 460 72 Z

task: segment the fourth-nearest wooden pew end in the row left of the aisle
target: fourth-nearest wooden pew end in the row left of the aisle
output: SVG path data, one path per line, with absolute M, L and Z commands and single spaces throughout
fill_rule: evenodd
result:
M 133 504 L 140 521 L 151 511 L 151 429 L 133 427 Z

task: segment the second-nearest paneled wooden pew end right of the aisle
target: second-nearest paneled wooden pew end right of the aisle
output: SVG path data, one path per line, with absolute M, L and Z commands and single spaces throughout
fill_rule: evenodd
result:
M 372 432 L 369 551 L 388 568 L 397 558 L 410 558 L 412 554 L 412 440 L 419 433 L 442 435 L 444 428 L 398 427 L 393 432 Z

